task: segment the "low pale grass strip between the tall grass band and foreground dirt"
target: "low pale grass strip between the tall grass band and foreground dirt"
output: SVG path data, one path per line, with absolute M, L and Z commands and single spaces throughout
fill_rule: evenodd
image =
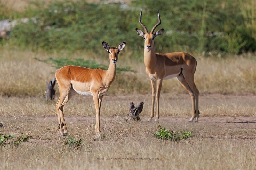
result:
M 47 117 L 56 115 L 58 97 L 54 101 L 47 102 L 41 97 L 0 97 L 1 116 L 36 116 Z M 147 119 L 150 114 L 151 95 L 111 95 L 104 96 L 101 117 L 126 115 L 129 104 L 144 102 L 144 109 L 141 113 L 142 118 Z M 201 95 L 199 96 L 199 110 L 201 116 L 252 116 L 256 117 L 256 96 L 255 95 Z M 160 117 L 184 117 L 191 116 L 191 99 L 188 94 L 173 95 L 163 93 L 160 96 Z M 64 113 L 67 117 L 73 116 L 95 116 L 95 107 L 91 96 L 74 96 L 65 106 Z M 0 121 L 1 122 L 1 121 Z

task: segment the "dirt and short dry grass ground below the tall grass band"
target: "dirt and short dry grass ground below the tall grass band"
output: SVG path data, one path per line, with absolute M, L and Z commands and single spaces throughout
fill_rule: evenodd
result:
M 94 133 L 92 98 L 75 96 L 65 105 L 64 115 L 68 135 L 84 142 L 77 150 L 65 145 L 66 137 L 59 135 L 57 99 L 0 97 L 0 133 L 32 136 L 18 147 L 0 146 L 0 165 L 9 169 L 256 168 L 256 95 L 201 95 L 198 123 L 188 122 L 191 101 L 185 94 L 163 94 L 159 122 L 148 122 L 150 96 L 104 97 L 101 138 Z M 124 120 L 131 100 L 145 103 L 139 122 Z M 178 143 L 159 140 L 153 136 L 158 124 L 191 131 L 193 138 Z

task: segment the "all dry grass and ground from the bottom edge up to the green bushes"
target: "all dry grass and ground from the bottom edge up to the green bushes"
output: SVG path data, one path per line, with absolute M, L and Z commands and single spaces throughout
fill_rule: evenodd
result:
M 1 3 L 8 5 L 7 11 L 20 11 L 29 1 L 4 0 Z M 199 123 L 188 123 L 190 97 L 173 79 L 163 84 L 160 122 L 148 123 L 150 81 L 143 63 L 130 60 L 130 52 L 124 50 L 118 65 L 131 66 L 138 73 L 117 74 L 110 96 L 103 98 L 102 138 L 95 138 L 92 97 L 74 96 L 64 107 L 68 134 L 84 141 L 80 149 L 74 150 L 64 145 L 65 138 L 60 137 L 57 129 L 58 94 L 54 101 L 46 102 L 44 98 L 45 82 L 52 80 L 55 69 L 33 59 L 56 58 L 61 54 L 8 46 L 1 46 L 0 52 L 0 122 L 3 122 L 0 133 L 32 135 L 18 147 L 0 145 L 0 165 L 4 169 L 256 168 L 255 55 L 226 59 L 195 55 L 198 61 L 195 81 L 201 92 Z M 78 52 L 72 57 L 108 64 L 104 55 Z M 145 103 L 140 122 L 124 121 L 132 100 L 136 104 Z M 194 137 L 180 143 L 156 139 L 153 134 L 158 124 L 174 131 L 191 131 Z M 106 157 L 158 160 L 97 160 Z

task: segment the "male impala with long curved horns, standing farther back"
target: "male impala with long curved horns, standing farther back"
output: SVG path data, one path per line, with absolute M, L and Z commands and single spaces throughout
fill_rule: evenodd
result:
M 158 10 L 157 10 L 158 11 Z M 154 30 L 161 24 L 161 19 L 158 11 L 158 23 L 148 33 L 146 26 L 141 22 L 142 9 L 140 11 L 139 23 L 145 30 L 145 33 L 138 28 L 136 32 L 139 36 L 143 37 L 144 43 L 144 64 L 146 66 L 146 73 L 151 80 L 152 87 L 152 103 L 151 114 L 149 121 L 154 117 L 154 104 L 156 96 L 156 119 L 159 119 L 159 96 L 162 87 L 163 79 L 171 79 L 176 77 L 181 85 L 188 91 L 192 100 L 192 117 L 189 122 L 195 119 L 195 122 L 199 118 L 198 110 L 198 95 L 199 91 L 194 83 L 194 73 L 196 71 L 196 59 L 185 52 L 174 53 L 155 53 L 154 38 L 161 35 L 164 29 L 158 30 L 154 33 Z M 157 82 L 157 83 L 156 83 Z

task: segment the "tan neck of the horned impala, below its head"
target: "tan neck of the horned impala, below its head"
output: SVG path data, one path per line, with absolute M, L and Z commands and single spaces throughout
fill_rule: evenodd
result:
M 156 67 L 156 53 L 154 43 L 151 45 L 151 49 L 148 50 L 146 45 L 144 46 L 144 64 L 146 68 L 150 71 L 151 74 L 154 73 L 154 69 Z

